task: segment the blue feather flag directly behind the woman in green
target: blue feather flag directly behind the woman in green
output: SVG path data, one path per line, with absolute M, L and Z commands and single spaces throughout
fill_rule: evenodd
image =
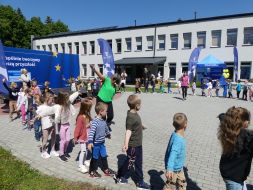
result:
M 111 77 L 115 72 L 112 48 L 109 43 L 102 38 L 98 39 L 98 44 L 100 46 L 100 52 L 103 58 L 105 74 L 106 76 Z

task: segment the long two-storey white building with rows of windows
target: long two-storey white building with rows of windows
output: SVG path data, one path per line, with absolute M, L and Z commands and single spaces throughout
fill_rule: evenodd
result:
M 79 55 L 80 77 L 94 77 L 89 65 L 103 72 L 97 42 L 106 39 L 112 47 L 116 72 L 126 70 L 128 82 L 143 77 L 144 67 L 164 78 L 178 79 L 188 70 L 191 52 L 201 47 L 199 61 L 211 54 L 224 61 L 233 79 L 233 47 L 238 49 L 239 79 L 253 78 L 253 13 L 179 20 L 130 27 L 108 27 L 35 37 L 35 50 Z

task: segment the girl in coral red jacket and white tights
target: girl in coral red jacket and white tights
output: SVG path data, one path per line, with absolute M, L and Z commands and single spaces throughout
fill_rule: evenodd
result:
M 76 117 L 76 128 L 74 131 L 74 141 L 80 144 L 80 154 L 79 154 L 79 168 L 78 171 L 81 173 L 88 172 L 86 168 L 86 143 L 88 141 L 87 138 L 87 128 L 90 127 L 91 115 L 90 110 L 92 107 L 92 101 L 85 98 L 82 100 L 80 105 L 79 114 Z

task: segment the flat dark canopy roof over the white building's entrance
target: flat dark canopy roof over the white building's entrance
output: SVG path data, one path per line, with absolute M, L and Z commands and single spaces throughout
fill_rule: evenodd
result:
M 115 61 L 115 64 L 160 64 L 166 61 L 166 57 L 129 57 Z

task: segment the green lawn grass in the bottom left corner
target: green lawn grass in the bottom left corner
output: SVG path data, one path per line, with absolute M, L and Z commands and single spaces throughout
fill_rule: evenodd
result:
M 0 147 L 0 189 L 104 190 L 105 188 L 92 186 L 87 183 L 64 181 L 56 177 L 44 175 Z

